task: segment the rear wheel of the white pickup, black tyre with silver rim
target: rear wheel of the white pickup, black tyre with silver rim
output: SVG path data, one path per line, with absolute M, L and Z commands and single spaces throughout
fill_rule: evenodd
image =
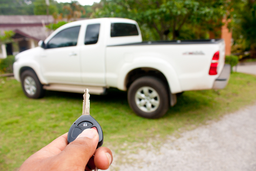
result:
M 138 78 L 128 90 L 128 102 L 137 115 L 160 118 L 169 108 L 167 86 L 152 76 Z

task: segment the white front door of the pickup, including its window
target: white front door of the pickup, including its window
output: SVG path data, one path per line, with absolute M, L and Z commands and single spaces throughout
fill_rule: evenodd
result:
M 80 26 L 63 29 L 47 42 L 40 66 L 49 83 L 81 83 L 79 31 Z

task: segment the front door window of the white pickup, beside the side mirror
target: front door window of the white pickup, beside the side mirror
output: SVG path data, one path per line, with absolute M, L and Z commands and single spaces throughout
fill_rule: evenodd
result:
M 76 46 L 81 26 L 71 27 L 58 32 L 47 44 L 46 48 L 62 48 Z

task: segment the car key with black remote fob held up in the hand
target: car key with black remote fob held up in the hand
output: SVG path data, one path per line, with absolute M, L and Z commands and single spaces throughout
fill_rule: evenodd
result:
M 82 116 L 80 116 L 70 127 L 68 133 L 68 142 L 71 143 L 76 137 L 86 129 L 95 129 L 99 134 L 97 148 L 103 144 L 103 133 L 99 123 L 90 115 L 90 94 L 89 90 L 84 90 Z

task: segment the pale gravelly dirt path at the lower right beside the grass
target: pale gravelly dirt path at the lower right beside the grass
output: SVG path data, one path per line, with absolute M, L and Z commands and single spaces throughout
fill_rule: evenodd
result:
M 152 142 L 151 142 L 152 143 Z M 147 144 L 150 146 L 150 144 Z M 167 141 L 116 154 L 109 170 L 256 170 L 256 104 Z

